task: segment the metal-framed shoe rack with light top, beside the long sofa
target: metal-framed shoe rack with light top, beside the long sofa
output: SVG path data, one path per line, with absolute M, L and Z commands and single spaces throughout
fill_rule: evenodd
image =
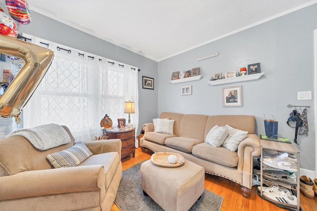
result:
M 283 143 L 283 142 L 278 142 L 278 141 L 269 141 L 269 140 L 263 140 L 260 139 L 261 141 L 261 188 L 260 188 L 260 197 L 263 198 L 264 200 L 266 200 L 263 196 L 263 181 L 265 180 L 265 178 L 263 178 L 263 150 L 265 149 L 269 149 L 269 150 L 278 150 L 278 151 L 283 151 L 283 152 L 287 152 L 287 153 L 291 153 L 294 154 L 297 158 L 297 169 L 292 169 L 292 171 L 294 172 L 294 174 L 296 175 L 296 181 L 297 181 L 297 185 L 296 186 L 291 186 L 291 189 L 296 191 L 297 193 L 297 209 L 289 207 L 289 206 L 284 206 L 284 205 L 279 205 L 279 204 L 275 204 L 278 207 L 282 207 L 284 209 L 287 210 L 291 210 L 291 211 L 301 211 L 300 208 L 300 156 L 299 156 L 299 152 L 298 150 L 293 146 L 292 143 Z M 277 168 L 278 169 L 278 168 Z M 297 171 L 296 171 L 297 170 Z M 270 181 L 271 183 L 274 183 L 272 181 Z M 276 185 L 278 185 L 276 183 Z

